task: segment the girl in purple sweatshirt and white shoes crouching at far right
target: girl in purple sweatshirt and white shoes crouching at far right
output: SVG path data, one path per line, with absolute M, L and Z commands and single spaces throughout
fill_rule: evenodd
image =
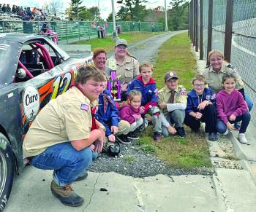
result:
M 238 134 L 238 141 L 242 144 L 247 143 L 244 135 L 249 125 L 251 115 L 244 101 L 243 95 L 236 90 L 236 76 L 233 74 L 224 74 L 222 77 L 224 90 L 217 94 L 217 130 L 219 133 L 227 134 L 228 130 L 233 130 L 233 123 L 240 122 L 241 128 Z

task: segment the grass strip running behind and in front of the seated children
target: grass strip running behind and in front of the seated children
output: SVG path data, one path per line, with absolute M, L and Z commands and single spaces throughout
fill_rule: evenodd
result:
M 176 71 L 179 76 L 179 85 L 184 85 L 187 91 L 192 89 L 192 78 L 197 74 L 196 60 L 190 50 L 190 41 L 187 33 L 178 34 L 169 39 L 159 49 L 158 58 L 154 64 L 154 79 L 157 87 L 165 86 L 164 76 L 167 71 Z M 142 148 L 150 149 L 157 157 L 175 168 L 203 168 L 211 167 L 210 154 L 205 135 L 190 133 L 189 128 L 186 138 L 170 136 L 161 141 L 153 140 L 153 127 L 148 126 L 140 138 Z

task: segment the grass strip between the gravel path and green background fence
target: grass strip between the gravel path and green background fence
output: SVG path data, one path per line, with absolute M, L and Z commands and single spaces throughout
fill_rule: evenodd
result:
M 150 36 L 154 36 L 157 34 L 162 34 L 162 32 L 155 32 L 155 33 L 129 32 L 129 33 L 121 34 L 118 37 L 121 39 L 126 39 L 128 44 L 132 44 L 134 42 L 138 42 L 140 40 L 146 39 Z M 115 42 L 113 41 L 112 36 L 106 36 L 105 39 L 95 38 L 95 39 L 83 40 L 83 41 L 75 42 L 75 44 L 91 44 L 91 50 L 94 50 L 97 47 L 102 47 L 105 50 L 107 50 L 107 52 L 109 52 L 110 50 L 113 50 L 113 48 L 115 47 Z

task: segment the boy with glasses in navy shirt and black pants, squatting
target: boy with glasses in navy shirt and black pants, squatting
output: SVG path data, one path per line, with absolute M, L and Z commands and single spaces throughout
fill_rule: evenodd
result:
M 194 88 L 188 94 L 184 123 L 196 133 L 200 128 L 200 122 L 205 122 L 208 140 L 217 141 L 217 117 L 214 106 L 216 95 L 213 90 L 206 87 L 206 78 L 203 75 L 195 76 L 192 84 Z

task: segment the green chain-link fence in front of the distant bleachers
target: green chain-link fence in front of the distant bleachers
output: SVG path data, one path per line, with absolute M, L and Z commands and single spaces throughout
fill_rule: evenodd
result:
M 40 21 L 0 20 L 0 32 L 39 34 Z M 105 29 L 105 34 L 113 33 L 113 23 L 91 23 L 87 21 L 46 21 L 49 28 L 56 31 L 59 40 L 69 43 L 74 39 L 91 39 L 97 36 L 98 26 Z M 117 22 L 118 33 L 128 31 L 164 31 L 161 23 Z

